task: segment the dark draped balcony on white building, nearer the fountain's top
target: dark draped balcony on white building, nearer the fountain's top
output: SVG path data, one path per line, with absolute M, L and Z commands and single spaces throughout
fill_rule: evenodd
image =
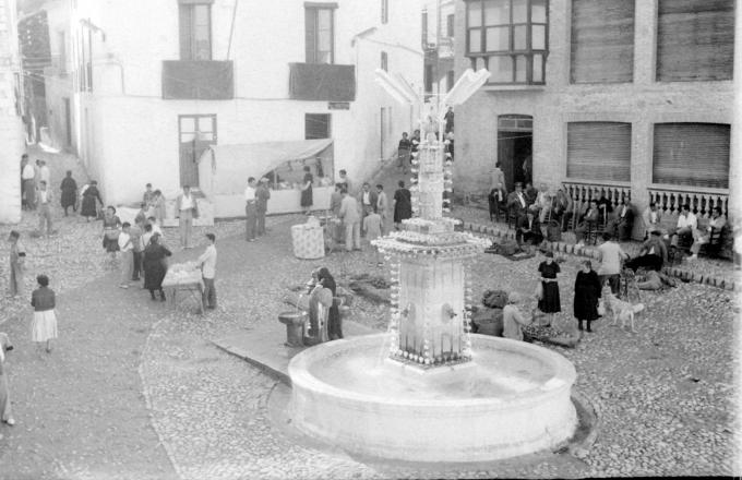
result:
M 354 65 L 289 63 L 289 98 L 309 101 L 354 101 Z

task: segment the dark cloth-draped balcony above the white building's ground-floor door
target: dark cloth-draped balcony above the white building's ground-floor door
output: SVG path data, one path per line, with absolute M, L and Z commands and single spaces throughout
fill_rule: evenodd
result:
M 166 100 L 231 100 L 235 98 L 232 61 L 163 61 L 163 98 Z

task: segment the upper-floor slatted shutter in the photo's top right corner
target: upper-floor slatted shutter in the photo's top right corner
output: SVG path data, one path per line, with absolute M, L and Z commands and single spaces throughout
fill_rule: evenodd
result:
M 659 0 L 657 80 L 731 80 L 734 0 Z

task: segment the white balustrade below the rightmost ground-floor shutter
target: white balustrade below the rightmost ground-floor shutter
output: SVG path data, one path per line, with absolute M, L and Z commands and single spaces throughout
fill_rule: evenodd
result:
M 657 204 L 663 215 L 678 215 L 680 208 L 689 204 L 698 218 L 708 218 L 711 209 L 721 207 L 727 215 L 729 190 L 697 188 L 649 188 L 649 202 Z

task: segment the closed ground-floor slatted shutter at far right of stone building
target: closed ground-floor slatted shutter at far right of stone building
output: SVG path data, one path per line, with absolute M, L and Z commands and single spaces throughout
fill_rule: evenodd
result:
M 728 124 L 656 124 L 653 182 L 728 189 L 729 134 Z

